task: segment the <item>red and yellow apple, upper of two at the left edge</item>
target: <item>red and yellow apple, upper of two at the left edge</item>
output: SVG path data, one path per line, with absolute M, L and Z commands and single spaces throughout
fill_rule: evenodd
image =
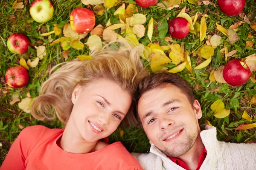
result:
M 7 40 L 8 49 L 15 54 L 24 54 L 29 48 L 29 39 L 22 33 L 14 33 Z

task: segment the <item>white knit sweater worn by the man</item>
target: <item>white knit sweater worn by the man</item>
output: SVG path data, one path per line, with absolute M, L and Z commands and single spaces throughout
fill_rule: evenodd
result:
M 206 126 L 200 133 L 207 156 L 200 170 L 256 170 L 256 144 L 220 142 L 216 128 Z M 132 153 L 144 170 L 185 170 L 175 164 L 154 144 L 150 153 Z

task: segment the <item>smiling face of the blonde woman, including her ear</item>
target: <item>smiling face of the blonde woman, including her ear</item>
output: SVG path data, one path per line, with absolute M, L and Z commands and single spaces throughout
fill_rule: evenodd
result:
M 86 87 L 77 86 L 69 121 L 87 142 L 96 142 L 113 133 L 131 106 L 131 95 L 107 79 Z

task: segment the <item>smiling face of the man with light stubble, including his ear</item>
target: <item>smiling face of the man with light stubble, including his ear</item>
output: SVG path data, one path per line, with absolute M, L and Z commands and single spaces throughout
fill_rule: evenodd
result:
M 192 108 L 187 96 L 169 83 L 145 92 L 138 113 L 148 139 L 167 156 L 186 153 L 200 132 L 200 104 L 195 100 Z

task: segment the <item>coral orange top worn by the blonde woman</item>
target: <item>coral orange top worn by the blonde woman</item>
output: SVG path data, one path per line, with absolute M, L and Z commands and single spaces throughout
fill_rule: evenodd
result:
M 56 143 L 63 131 L 42 125 L 24 128 L 0 170 L 142 170 L 121 142 L 92 153 L 68 153 Z

